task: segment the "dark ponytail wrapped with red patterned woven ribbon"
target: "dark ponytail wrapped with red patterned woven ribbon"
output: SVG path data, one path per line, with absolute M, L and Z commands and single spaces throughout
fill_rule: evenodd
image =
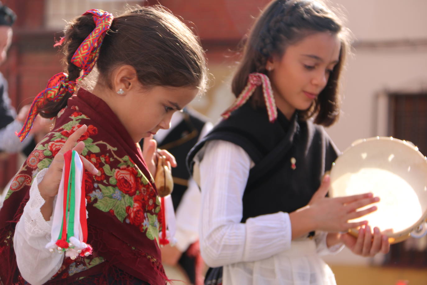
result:
M 62 72 L 54 75 L 47 83 L 46 89 L 35 97 L 25 123 L 17 133 L 20 141 L 28 135 L 38 113 L 41 112 L 45 118 L 53 118 L 67 105 L 67 100 L 74 93 L 77 82 L 82 81 L 97 62 L 99 47 L 111 26 L 113 16 L 102 10 L 89 10 L 77 20 L 79 24 L 70 25 L 66 36 L 56 44 L 67 43 L 64 50 L 70 76 Z M 80 74 L 82 71 L 83 74 Z

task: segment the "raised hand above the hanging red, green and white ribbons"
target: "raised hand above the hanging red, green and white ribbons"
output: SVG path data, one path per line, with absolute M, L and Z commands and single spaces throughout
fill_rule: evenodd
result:
M 85 143 L 79 141 L 76 144 L 77 140 L 83 135 L 88 127 L 86 125 L 81 126 L 72 135 L 65 141 L 64 146 L 61 150 L 58 151 L 56 156 L 53 158 L 52 163 L 49 166 L 46 174 L 44 175 L 41 182 L 38 184 L 38 189 L 40 191 L 41 197 L 47 201 L 55 197 L 58 194 L 59 183 L 61 182 L 62 169 L 64 167 L 64 153 L 68 150 L 76 150 L 77 153 L 82 153 L 82 150 L 85 148 Z M 92 174 L 96 175 L 98 173 L 97 168 L 80 155 L 82 159 L 83 166 Z

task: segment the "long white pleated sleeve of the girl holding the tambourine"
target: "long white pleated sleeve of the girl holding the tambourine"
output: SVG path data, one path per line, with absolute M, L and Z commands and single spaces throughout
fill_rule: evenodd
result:
M 240 222 L 251 165 L 243 148 L 221 140 L 208 142 L 201 162 L 195 164 L 202 191 L 200 247 L 211 267 L 258 261 L 290 248 L 289 214 L 277 212 Z

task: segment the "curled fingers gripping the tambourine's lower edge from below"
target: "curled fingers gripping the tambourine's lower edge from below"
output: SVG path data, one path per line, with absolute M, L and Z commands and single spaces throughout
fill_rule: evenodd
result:
M 387 236 L 381 235 L 380 229 L 374 227 L 372 238 L 371 227 L 369 225 L 360 227 L 357 238 L 347 233 L 341 235 L 340 240 L 353 253 L 360 256 L 374 256 L 379 252 L 386 254 L 390 250 L 390 243 Z

